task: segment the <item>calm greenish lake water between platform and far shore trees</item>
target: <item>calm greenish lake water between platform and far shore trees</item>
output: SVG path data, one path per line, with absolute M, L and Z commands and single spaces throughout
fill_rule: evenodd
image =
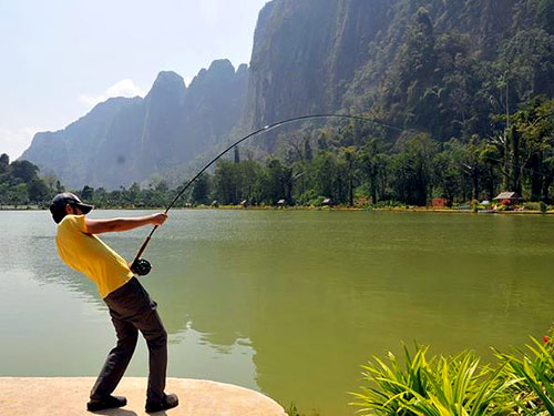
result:
M 0 224 L 0 376 L 95 376 L 115 339 L 95 286 L 59 260 L 49 213 L 4 211 Z M 102 239 L 131 261 L 148 231 Z M 554 318 L 552 216 L 172 211 L 145 257 L 170 376 L 307 415 L 352 415 L 359 366 L 402 341 L 490 359 Z M 142 338 L 126 374 L 147 374 Z

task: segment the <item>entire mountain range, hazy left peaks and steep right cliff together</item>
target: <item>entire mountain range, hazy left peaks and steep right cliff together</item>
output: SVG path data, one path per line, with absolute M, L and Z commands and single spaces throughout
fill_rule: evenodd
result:
M 250 65 L 226 60 L 188 88 L 162 72 L 23 154 L 69 186 L 167 176 L 201 152 L 291 116 L 366 113 L 437 140 L 488 134 L 489 114 L 554 95 L 552 0 L 273 0 Z M 507 100 L 506 100 L 507 93 Z M 511 108 L 505 108 L 505 102 Z

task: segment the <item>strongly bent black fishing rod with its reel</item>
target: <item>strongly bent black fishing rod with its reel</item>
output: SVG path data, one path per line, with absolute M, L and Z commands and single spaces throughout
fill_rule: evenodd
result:
M 245 135 L 240 140 L 237 140 L 235 143 L 230 144 L 228 148 L 226 148 L 224 151 L 222 151 L 217 156 L 215 156 L 208 164 L 206 164 L 204 168 L 202 168 L 201 171 L 192 180 L 189 180 L 183 186 L 183 189 L 177 193 L 177 195 L 173 199 L 172 203 L 165 209 L 164 213 L 167 214 L 167 212 L 173 207 L 173 205 L 175 204 L 175 202 L 177 202 L 177 200 L 181 197 L 181 195 L 183 195 L 185 193 L 185 191 L 188 187 L 191 187 L 191 185 L 207 169 L 209 169 L 209 166 L 212 166 L 225 153 L 227 153 L 229 150 L 236 148 L 238 144 L 243 143 L 245 140 L 248 140 L 252 136 L 255 136 L 255 135 L 260 134 L 263 132 L 267 133 L 267 132 L 269 132 L 271 130 L 275 130 L 275 129 L 277 129 L 277 128 L 279 128 L 281 125 L 286 125 L 286 124 L 290 124 L 290 123 L 295 123 L 295 122 L 304 121 L 304 120 L 314 120 L 314 119 L 345 119 L 345 120 L 355 120 L 355 121 L 362 121 L 362 122 L 373 123 L 376 125 L 380 125 L 382 128 L 387 128 L 387 129 L 390 129 L 390 130 L 396 130 L 398 132 L 406 131 L 404 129 L 400 129 L 400 128 L 397 128 L 394 125 L 384 124 L 384 123 L 381 123 L 381 122 L 376 121 L 373 119 L 370 119 L 368 116 L 351 115 L 351 114 L 310 114 L 310 115 L 300 115 L 300 116 L 295 116 L 295 118 L 291 118 L 291 119 L 287 119 L 287 120 L 278 121 L 278 122 L 273 123 L 273 124 L 265 125 L 261 129 L 255 130 L 252 133 Z M 138 252 L 136 253 L 135 258 L 133 260 L 133 263 L 131 264 L 131 271 L 133 273 L 135 273 L 136 275 L 138 275 L 138 276 L 145 276 L 152 270 L 152 265 L 150 264 L 150 262 L 147 260 L 145 260 L 145 258 L 141 258 L 141 255 L 146 250 L 146 246 L 148 245 L 148 243 L 150 243 L 150 241 L 152 239 L 152 235 L 155 233 L 155 231 L 157 230 L 157 227 L 158 227 L 158 225 L 154 225 L 154 227 L 152 229 L 152 231 L 150 232 L 150 234 L 146 236 L 146 239 L 142 243 L 141 248 L 138 248 Z

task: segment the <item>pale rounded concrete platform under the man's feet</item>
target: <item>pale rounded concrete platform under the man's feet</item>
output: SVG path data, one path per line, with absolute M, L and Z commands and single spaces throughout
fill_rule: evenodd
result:
M 11 416 L 143 416 L 146 378 L 124 377 L 115 395 L 127 405 L 86 412 L 93 377 L 0 377 L 0 415 Z M 167 416 L 287 416 L 269 397 L 229 384 L 168 378 L 166 392 L 176 393 L 178 407 L 153 415 Z

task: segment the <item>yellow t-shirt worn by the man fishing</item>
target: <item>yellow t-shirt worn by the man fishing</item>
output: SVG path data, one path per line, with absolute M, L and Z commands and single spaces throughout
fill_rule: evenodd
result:
M 55 243 L 65 264 L 92 278 L 102 298 L 133 277 L 122 256 L 86 233 L 84 215 L 65 215 L 58 225 Z

